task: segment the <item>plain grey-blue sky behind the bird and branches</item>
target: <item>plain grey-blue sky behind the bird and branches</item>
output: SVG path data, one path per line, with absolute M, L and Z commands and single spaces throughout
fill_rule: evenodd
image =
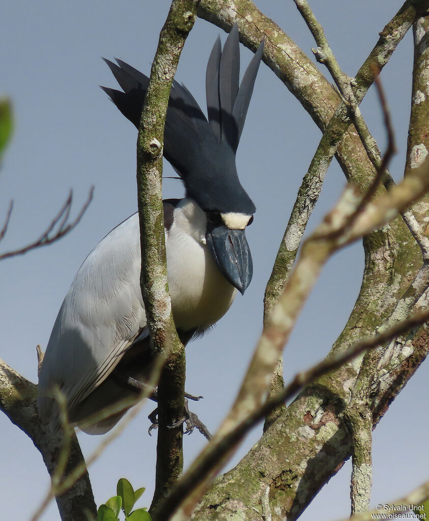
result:
M 314 4 L 316 16 L 340 65 L 353 75 L 400 2 Z M 295 39 L 305 52 L 314 46 L 293 2 L 261 0 L 258 7 Z M 0 94 L 12 97 L 16 130 L 0 171 L 0 222 L 9 199 L 14 213 L 1 251 L 33 240 L 62 205 L 69 188 L 76 214 L 95 186 L 94 201 L 80 225 L 59 243 L 4 261 L 0 271 L 0 356 L 36 381 L 35 346 L 45 348 L 58 308 L 89 251 L 137 207 L 135 188 L 136 131 L 100 84 L 115 86 L 101 59 L 119 57 L 148 73 L 168 2 L 3 2 L 0 6 Z M 217 34 L 198 20 L 192 30 L 176 78 L 185 82 L 202 107 L 205 64 Z M 242 49 L 242 63 L 251 54 Z M 399 147 L 392 165 L 401 176 L 410 107 L 411 35 L 383 71 L 393 109 Z M 325 71 L 324 71 L 325 73 Z M 379 145 L 385 136 L 373 93 L 362 111 Z M 242 184 L 258 208 L 249 228 L 254 276 L 246 294 L 237 297 L 227 316 L 203 339 L 188 345 L 187 391 L 204 395 L 194 406 L 214 431 L 234 400 L 262 324 L 262 297 L 275 253 L 300 181 L 320 139 L 310 117 L 285 86 L 262 65 L 238 150 Z M 166 165 L 165 175 L 172 174 Z M 326 213 L 345 185 L 334 163 L 310 222 Z M 181 184 L 167 179 L 165 197 L 180 197 Z M 344 326 L 362 277 L 360 244 L 337 254 L 323 271 L 285 351 L 285 377 L 323 357 Z M 427 367 L 425 364 L 390 407 L 374 432 L 373 504 L 410 490 L 427 478 Z M 90 468 L 97 504 L 115 492 L 119 477 L 145 486 L 141 505 L 149 505 L 154 485 L 156 436 L 147 435 L 145 408 Z M 48 486 L 48 475 L 31 441 L 0 415 L 2 457 L 0 500 L 4 519 L 30 517 Z M 255 429 L 240 454 L 261 432 Z M 100 438 L 79 434 L 88 454 Z M 185 439 L 189 464 L 205 441 L 199 433 Z M 235 458 L 238 461 L 239 455 Z M 349 513 L 350 466 L 318 495 L 302 519 L 335 519 Z M 55 504 L 44 521 L 59 519 Z

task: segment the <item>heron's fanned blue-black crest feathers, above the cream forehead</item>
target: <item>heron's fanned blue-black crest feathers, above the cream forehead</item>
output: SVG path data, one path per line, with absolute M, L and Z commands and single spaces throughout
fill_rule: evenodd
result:
M 218 38 L 206 70 L 207 121 L 185 85 L 173 81 L 164 131 L 164 157 L 205 210 L 253 214 L 255 207 L 237 176 L 235 154 L 263 52 L 253 56 L 241 85 L 237 24 L 224 48 Z M 149 78 L 124 61 L 105 60 L 122 91 L 102 87 L 137 128 Z

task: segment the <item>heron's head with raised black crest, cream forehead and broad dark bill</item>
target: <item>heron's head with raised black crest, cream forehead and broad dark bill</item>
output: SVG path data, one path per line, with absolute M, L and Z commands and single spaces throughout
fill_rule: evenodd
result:
M 164 157 L 185 185 L 186 195 L 207 218 L 206 243 L 224 277 L 244 293 L 252 279 L 252 257 L 245 230 L 255 206 L 242 187 L 236 152 L 262 58 L 262 42 L 240 83 L 237 24 L 224 47 L 218 38 L 207 63 L 207 118 L 183 84 L 173 81 L 164 131 Z M 139 127 L 149 79 L 121 60 L 106 60 L 124 92 L 103 89 Z

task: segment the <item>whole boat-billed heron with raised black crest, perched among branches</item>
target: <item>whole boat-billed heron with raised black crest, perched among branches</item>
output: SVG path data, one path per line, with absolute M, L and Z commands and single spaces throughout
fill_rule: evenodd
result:
M 173 82 L 164 156 L 185 185 L 183 199 L 164 201 L 168 285 L 179 336 L 187 343 L 210 328 L 252 279 L 245 230 L 255 206 L 237 176 L 236 151 L 263 51 L 241 84 L 238 28 L 222 49 L 218 38 L 206 70 L 206 118 L 184 85 Z M 121 91 L 103 88 L 136 127 L 149 79 L 106 60 Z M 42 419 L 58 421 L 53 390 L 64 393 L 69 420 L 81 424 L 133 391 L 122 376 L 144 381 L 153 359 L 140 290 L 139 219 L 114 228 L 84 260 L 64 299 L 39 375 Z M 125 411 L 83 430 L 111 429 Z

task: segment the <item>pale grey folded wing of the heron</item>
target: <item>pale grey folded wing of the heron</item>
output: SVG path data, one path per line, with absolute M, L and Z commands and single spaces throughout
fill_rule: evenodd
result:
M 88 255 L 60 308 L 39 375 L 43 419 L 57 415 L 55 387 L 72 411 L 107 378 L 145 328 L 139 280 L 139 222 L 134 214 Z

